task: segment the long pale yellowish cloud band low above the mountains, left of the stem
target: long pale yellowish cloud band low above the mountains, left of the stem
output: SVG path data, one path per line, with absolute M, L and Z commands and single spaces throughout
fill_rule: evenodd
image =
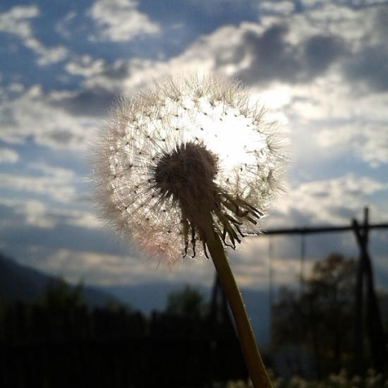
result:
M 52 250 L 35 247 L 37 254 L 28 257 L 28 265 L 50 274 L 60 275 L 73 283 L 87 284 L 142 284 L 149 281 L 171 283 L 195 282 L 210 286 L 214 281 L 214 266 L 208 260 L 186 260 L 170 270 L 158 262 L 143 257 L 110 255 L 70 249 Z

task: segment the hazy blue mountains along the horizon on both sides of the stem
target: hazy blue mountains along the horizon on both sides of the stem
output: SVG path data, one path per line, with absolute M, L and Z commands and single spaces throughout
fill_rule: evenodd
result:
M 20 265 L 15 260 L 0 253 L 0 298 L 5 301 L 32 301 L 44 292 L 47 284 L 59 281 L 37 269 Z M 92 307 L 107 305 L 110 301 L 119 301 L 134 310 L 150 314 L 152 310 L 164 310 L 167 296 L 181 291 L 186 284 L 154 282 L 128 284 L 124 286 L 83 286 L 82 298 Z M 200 284 L 190 284 L 210 301 L 212 289 Z M 242 289 L 248 315 L 259 344 L 269 340 L 269 304 L 268 292 Z

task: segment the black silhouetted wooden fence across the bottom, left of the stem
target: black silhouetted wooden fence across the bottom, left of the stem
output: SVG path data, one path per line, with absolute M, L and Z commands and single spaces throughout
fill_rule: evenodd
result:
M 210 387 L 246 379 L 228 322 L 15 303 L 0 315 L 0 387 Z

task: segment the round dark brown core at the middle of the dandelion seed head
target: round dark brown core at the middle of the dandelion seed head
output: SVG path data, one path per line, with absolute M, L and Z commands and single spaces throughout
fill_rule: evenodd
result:
M 204 205 L 214 191 L 217 158 L 204 145 L 186 143 L 162 154 L 154 168 L 154 182 L 162 198 L 178 201 L 183 212 Z M 188 214 L 186 214 L 188 215 Z

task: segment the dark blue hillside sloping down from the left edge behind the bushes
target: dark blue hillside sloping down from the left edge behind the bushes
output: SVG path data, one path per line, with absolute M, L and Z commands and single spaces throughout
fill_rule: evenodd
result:
M 44 292 L 48 284 L 59 281 L 43 272 L 20 265 L 0 253 L 0 298 L 4 301 L 32 301 Z M 93 307 L 106 305 L 117 298 L 97 288 L 84 286 L 82 298 Z

